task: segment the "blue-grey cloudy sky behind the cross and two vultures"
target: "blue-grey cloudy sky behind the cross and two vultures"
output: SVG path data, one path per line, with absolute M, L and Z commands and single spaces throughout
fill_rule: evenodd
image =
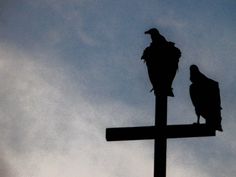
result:
M 153 141 L 105 128 L 154 124 L 144 31 L 182 57 L 168 123 L 196 121 L 189 66 L 220 84 L 223 133 L 168 140 L 167 177 L 236 174 L 236 1 L 1 0 L 0 177 L 151 177 Z

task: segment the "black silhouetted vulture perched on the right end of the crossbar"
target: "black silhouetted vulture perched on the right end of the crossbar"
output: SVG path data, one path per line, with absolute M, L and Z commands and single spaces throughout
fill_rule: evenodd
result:
M 223 131 L 221 127 L 221 100 L 218 82 L 207 78 L 196 65 L 190 66 L 190 96 L 195 107 L 197 123 L 200 116 L 206 124 L 215 130 Z

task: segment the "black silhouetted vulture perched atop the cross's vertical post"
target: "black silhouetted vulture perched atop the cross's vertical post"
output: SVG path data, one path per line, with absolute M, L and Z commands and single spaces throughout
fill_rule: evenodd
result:
M 151 35 L 152 43 L 144 50 L 141 59 L 146 62 L 152 90 L 155 94 L 174 96 L 171 85 L 178 69 L 181 52 L 156 28 L 146 31 L 145 34 Z

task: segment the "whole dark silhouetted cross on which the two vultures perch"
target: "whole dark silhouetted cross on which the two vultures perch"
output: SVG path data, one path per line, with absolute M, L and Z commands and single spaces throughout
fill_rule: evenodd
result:
M 167 125 L 167 96 L 157 95 L 155 125 L 107 128 L 107 141 L 154 139 L 154 177 L 166 176 L 167 138 L 215 136 L 206 124 Z

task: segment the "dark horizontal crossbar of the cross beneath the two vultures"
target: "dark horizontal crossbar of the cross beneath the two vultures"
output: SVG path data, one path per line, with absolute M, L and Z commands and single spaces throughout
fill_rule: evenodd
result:
M 215 136 L 215 130 L 206 124 L 167 125 L 165 127 L 120 127 L 107 128 L 107 141 L 145 140 L 166 138 L 191 138 Z

